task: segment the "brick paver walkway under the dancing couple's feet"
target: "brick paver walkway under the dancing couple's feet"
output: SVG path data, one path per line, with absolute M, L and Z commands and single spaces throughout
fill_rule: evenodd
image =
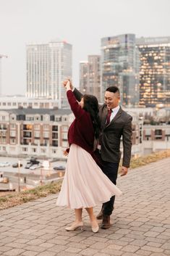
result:
M 65 231 L 74 215 L 56 207 L 56 195 L 2 210 L 0 255 L 170 255 L 170 158 L 130 170 L 118 186 L 124 195 L 116 199 L 113 225 L 98 234 L 86 212 L 84 231 Z

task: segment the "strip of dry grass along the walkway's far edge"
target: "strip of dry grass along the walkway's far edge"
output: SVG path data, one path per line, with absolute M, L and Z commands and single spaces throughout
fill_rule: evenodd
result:
M 170 150 L 156 152 L 143 157 L 132 158 L 130 168 L 134 169 L 143 165 L 148 165 L 150 162 L 156 162 L 163 158 L 170 157 Z M 46 197 L 49 194 L 56 194 L 61 189 L 62 181 L 51 183 L 49 185 L 38 186 L 35 189 L 30 189 L 22 192 L 14 192 L 7 196 L 0 197 L 0 210 L 21 205 L 25 202 L 30 202 L 35 199 Z

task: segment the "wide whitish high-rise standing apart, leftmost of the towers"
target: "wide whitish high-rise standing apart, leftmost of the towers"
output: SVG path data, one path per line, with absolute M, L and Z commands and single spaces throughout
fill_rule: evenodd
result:
M 62 82 L 72 78 L 72 45 L 65 41 L 27 45 L 27 97 L 57 99 L 67 107 Z

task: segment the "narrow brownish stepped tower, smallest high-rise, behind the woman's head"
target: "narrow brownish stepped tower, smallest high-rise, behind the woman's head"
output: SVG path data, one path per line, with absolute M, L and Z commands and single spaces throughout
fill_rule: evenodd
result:
M 80 62 L 80 91 L 101 99 L 100 55 L 89 55 L 88 61 Z

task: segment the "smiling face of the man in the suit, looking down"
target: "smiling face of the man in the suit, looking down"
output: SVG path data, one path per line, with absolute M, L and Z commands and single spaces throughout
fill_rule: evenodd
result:
M 119 105 L 119 100 L 120 100 L 119 93 L 116 92 L 114 94 L 114 92 L 106 91 L 104 100 L 108 109 L 113 109 L 114 107 L 117 107 Z

